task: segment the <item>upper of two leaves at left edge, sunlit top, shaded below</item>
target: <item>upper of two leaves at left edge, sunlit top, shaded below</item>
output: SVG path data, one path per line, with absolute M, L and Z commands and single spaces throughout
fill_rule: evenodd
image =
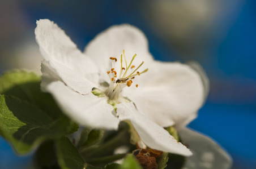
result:
M 56 119 L 61 110 L 50 94 L 41 92 L 41 77 L 32 72 L 15 70 L 0 77 L 0 94 L 12 95 L 38 106 L 50 117 Z

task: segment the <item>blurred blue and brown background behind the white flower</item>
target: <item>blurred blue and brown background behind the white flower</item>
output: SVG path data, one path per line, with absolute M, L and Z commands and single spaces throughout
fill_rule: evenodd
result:
M 22 68 L 40 74 L 36 20 L 53 20 L 82 51 L 111 25 L 135 25 L 155 59 L 202 65 L 210 94 L 189 127 L 223 146 L 233 169 L 256 168 L 255 7 L 253 0 L 1 0 L 0 73 Z M 31 157 L 16 157 L 0 137 L 0 168 L 25 167 Z

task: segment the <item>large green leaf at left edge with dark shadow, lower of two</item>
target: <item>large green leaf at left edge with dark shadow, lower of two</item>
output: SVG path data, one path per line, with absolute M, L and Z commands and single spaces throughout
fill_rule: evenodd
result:
M 0 134 L 19 154 L 31 152 L 44 140 L 57 139 L 67 134 L 70 124 L 70 119 L 63 114 L 54 121 L 27 101 L 0 95 Z

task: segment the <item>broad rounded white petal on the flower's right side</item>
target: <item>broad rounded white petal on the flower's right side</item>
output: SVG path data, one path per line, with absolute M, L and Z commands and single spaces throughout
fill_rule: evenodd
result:
M 197 117 L 204 100 L 199 74 L 180 63 L 155 61 L 150 66 L 148 72 L 135 77 L 138 88 L 125 88 L 123 96 L 162 127 L 185 125 Z

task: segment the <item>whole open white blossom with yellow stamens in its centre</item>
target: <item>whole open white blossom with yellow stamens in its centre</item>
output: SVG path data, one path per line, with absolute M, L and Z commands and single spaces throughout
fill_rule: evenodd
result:
M 105 30 L 84 53 L 52 21 L 37 21 L 35 34 L 44 57 L 42 90 L 67 115 L 107 129 L 128 120 L 147 146 L 192 154 L 163 128 L 184 128 L 204 101 L 202 80 L 190 66 L 153 60 L 146 37 L 131 25 Z

